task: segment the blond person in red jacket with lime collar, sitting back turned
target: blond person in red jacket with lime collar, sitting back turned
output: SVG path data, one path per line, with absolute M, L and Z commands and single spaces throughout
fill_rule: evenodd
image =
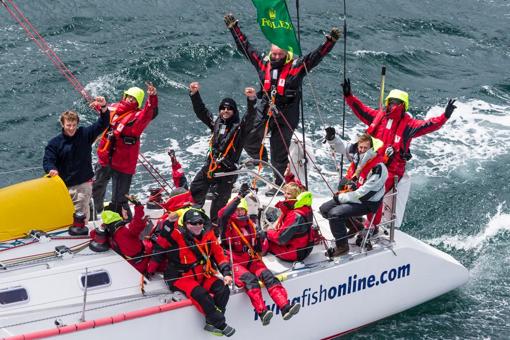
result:
M 285 261 L 301 261 L 313 250 L 315 230 L 312 228 L 312 193 L 294 179 L 287 165 L 283 187 L 285 200 L 274 206 L 282 211 L 274 229 L 267 230 L 269 252 Z

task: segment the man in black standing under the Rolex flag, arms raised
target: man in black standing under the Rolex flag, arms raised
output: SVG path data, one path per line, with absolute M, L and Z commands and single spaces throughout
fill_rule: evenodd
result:
M 271 164 L 283 175 L 289 162 L 289 154 L 287 149 L 282 146 L 282 143 L 285 143 L 287 147 L 290 146 L 293 131 L 299 122 L 300 87 L 303 77 L 307 74 L 307 71 L 309 72 L 317 66 L 322 58 L 333 49 L 333 46 L 340 38 L 340 30 L 337 28 L 331 29 L 331 32 L 326 34 L 326 41 L 319 48 L 301 58 L 293 59 L 292 53 L 276 45 L 271 45 L 270 55 L 261 53 L 241 33 L 238 25 L 239 20 L 234 19 L 234 15 L 226 15 L 223 21 L 234 36 L 237 48 L 257 69 L 259 79 L 263 84 L 258 93 L 259 99 L 262 99 L 262 102 L 253 124 L 253 129 L 246 138 L 244 149 L 252 159 L 262 159 L 262 161 L 267 162 L 267 150 L 262 145 L 262 142 L 266 122 L 269 119 Z M 273 111 L 272 116 L 269 117 L 268 108 L 272 93 L 275 96 L 274 104 L 277 110 Z M 285 119 L 279 115 L 283 115 Z M 260 158 L 261 148 L 262 158 Z M 282 179 L 276 173 L 274 178 L 277 185 L 282 184 Z M 266 196 L 273 196 L 275 194 L 279 195 L 276 189 L 272 188 L 266 193 Z

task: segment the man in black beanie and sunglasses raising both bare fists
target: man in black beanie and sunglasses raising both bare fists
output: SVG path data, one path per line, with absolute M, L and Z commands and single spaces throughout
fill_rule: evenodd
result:
M 216 119 L 198 93 L 198 83 L 190 84 L 190 98 L 198 119 L 211 129 L 209 152 L 206 164 L 198 171 L 191 182 L 190 192 L 195 204 L 203 206 L 209 187 L 215 186 L 211 202 L 210 216 L 213 223 L 218 221 L 218 212 L 225 206 L 232 193 L 237 175 L 215 177 L 216 172 L 228 172 L 238 168 L 237 162 L 243 150 L 244 140 L 253 127 L 257 114 L 257 98 L 253 88 L 246 88 L 248 110 L 243 118 L 239 117 L 237 104 L 232 98 L 223 98 L 219 106 L 219 117 Z M 219 236 L 215 227 L 214 233 Z

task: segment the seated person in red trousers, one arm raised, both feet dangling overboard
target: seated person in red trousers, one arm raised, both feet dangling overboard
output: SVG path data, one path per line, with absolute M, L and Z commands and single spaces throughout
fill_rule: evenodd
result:
M 262 230 L 253 224 L 247 216 L 248 205 L 244 197 L 249 194 L 248 184 L 243 183 L 237 197 L 228 202 L 219 212 L 219 225 L 222 233 L 223 247 L 230 251 L 234 261 L 234 280 L 243 287 L 257 311 L 262 325 L 269 325 L 273 312 L 267 309 L 259 280 L 264 282 L 269 296 L 282 311 L 284 320 L 295 315 L 301 304 L 292 305 L 287 300 L 287 291 L 262 260 L 262 253 L 267 250 L 267 239 Z

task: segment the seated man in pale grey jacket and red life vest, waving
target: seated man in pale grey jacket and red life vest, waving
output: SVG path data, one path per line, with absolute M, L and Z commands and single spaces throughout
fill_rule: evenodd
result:
M 361 135 L 357 143 L 351 144 L 337 138 L 334 127 L 327 127 L 326 140 L 335 152 L 342 153 L 351 161 L 347 175 L 340 180 L 339 188 L 343 190 L 319 208 L 335 237 L 336 246 L 326 252 L 326 256 L 340 256 L 349 252 L 347 239 L 360 231 L 352 225 L 347 234 L 346 221 L 350 217 L 377 211 L 385 193 L 388 170 L 384 158 L 377 154 L 383 143 L 369 134 Z

